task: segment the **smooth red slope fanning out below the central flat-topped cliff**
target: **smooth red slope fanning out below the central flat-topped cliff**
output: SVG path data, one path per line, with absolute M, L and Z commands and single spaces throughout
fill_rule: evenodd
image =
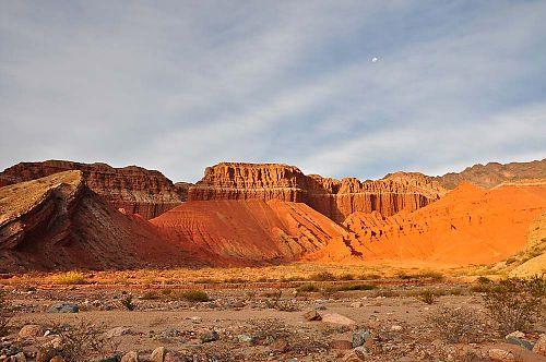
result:
M 189 201 L 151 222 L 173 243 L 211 252 L 215 265 L 296 261 L 344 232 L 309 206 L 278 200 Z

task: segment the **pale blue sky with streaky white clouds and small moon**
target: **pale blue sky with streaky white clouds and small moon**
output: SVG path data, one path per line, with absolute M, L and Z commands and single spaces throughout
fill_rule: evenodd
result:
M 546 1 L 0 0 L 0 169 L 546 157 Z M 377 59 L 375 59 L 377 58 Z

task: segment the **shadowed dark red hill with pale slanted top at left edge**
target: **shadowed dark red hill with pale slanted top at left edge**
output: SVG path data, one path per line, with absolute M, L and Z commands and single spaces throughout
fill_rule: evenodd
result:
M 123 215 L 64 171 L 0 189 L 0 270 L 187 264 L 138 215 Z

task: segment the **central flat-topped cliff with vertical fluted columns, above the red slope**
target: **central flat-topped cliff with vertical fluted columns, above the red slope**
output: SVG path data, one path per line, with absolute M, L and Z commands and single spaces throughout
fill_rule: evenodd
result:
M 223 162 L 205 170 L 204 178 L 189 190 L 190 201 L 281 200 L 301 202 L 342 222 L 355 212 L 378 210 L 390 216 L 415 210 L 438 200 L 446 190 L 417 174 L 396 173 L 383 180 L 360 182 L 306 176 L 298 168 L 276 164 Z

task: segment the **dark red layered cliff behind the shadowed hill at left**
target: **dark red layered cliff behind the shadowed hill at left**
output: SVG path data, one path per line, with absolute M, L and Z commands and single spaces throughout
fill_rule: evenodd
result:
M 177 188 L 159 171 L 136 166 L 114 168 L 106 164 L 81 164 L 49 160 L 21 162 L 0 173 L 0 186 L 35 180 L 57 172 L 80 170 L 91 190 L 116 208 L 139 214 L 145 219 L 156 217 L 180 205 L 187 191 Z

